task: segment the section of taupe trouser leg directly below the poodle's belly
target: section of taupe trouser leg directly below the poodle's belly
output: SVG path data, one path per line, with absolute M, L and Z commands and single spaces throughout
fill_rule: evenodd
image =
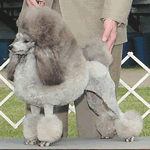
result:
M 100 137 L 96 130 L 97 115 L 89 108 L 86 94 L 83 94 L 75 102 L 78 137 Z

